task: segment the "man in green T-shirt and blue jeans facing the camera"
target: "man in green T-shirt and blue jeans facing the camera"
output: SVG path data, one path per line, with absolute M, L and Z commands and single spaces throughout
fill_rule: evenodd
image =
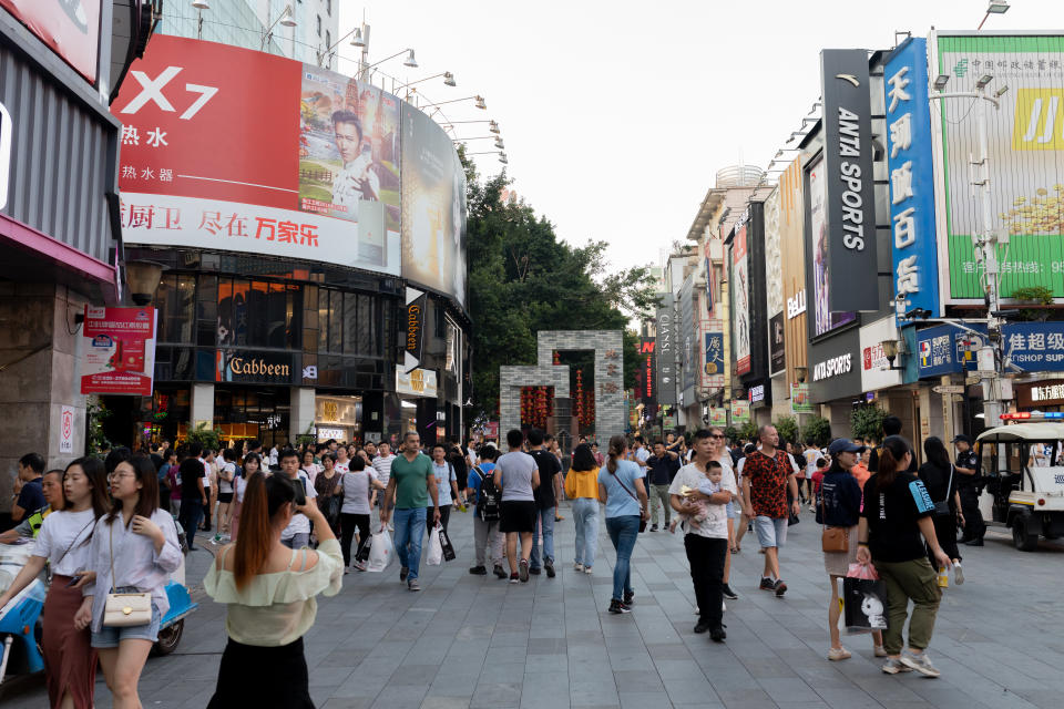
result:
M 387 524 L 390 518 L 392 500 L 396 503 L 395 543 L 396 556 L 399 557 L 399 580 L 406 582 L 409 590 L 421 590 L 418 572 L 426 511 L 432 511 L 431 523 L 434 527 L 440 521 L 440 508 L 432 460 L 421 452 L 421 436 L 417 431 L 407 431 L 402 439 L 402 455 L 391 461 L 385 504 L 380 508 L 381 524 Z

